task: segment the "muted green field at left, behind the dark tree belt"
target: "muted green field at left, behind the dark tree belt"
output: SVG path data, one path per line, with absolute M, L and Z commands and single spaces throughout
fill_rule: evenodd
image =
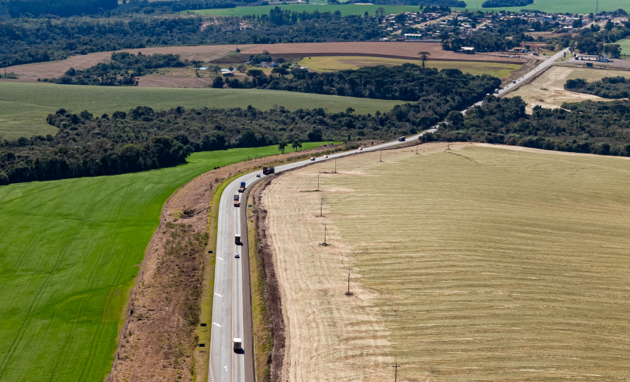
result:
M 352 107 L 358 114 L 385 112 L 396 100 L 375 100 L 326 96 L 260 89 L 175 89 L 164 87 L 99 87 L 54 85 L 48 83 L 3 83 L 0 92 L 0 138 L 14 139 L 34 134 L 56 133 L 46 123 L 46 116 L 61 107 L 73 112 L 87 110 L 94 115 L 129 111 L 136 106 L 156 110 L 171 107 L 247 107 L 271 109 L 274 105 L 287 109 L 323 107 L 328 112 L 342 112 Z

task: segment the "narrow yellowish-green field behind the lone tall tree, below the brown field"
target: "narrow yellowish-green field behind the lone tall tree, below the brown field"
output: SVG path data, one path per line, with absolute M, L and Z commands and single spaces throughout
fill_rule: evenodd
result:
M 311 59 L 300 60 L 299 65 L 304 65 L 317 72 L 335 72 L 336 70 L 357 69 L 364 66 L 395 66 L 403 63 L 420 65 L 418 59 L 389 59 L 386 57 L 370 56 L 313 56 Z M 483 61 L 429 61 L 427 67 L 442 69 L 459 69 L 470 74 L 491 74 L 499 78 L 510 76 L 510 72 L 518 70 L 522 65 L 510 63 L 486 63 Z

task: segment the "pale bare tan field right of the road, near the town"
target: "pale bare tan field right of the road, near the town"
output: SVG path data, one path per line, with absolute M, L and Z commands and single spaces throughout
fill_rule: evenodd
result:
M 564 86 L 567 80 L 585 78 L 589 82 L 600 81 L 602 77 L 624 76 L 630 78 L 630 72 L 623 70 L 587 69 L 571 66 L 552 66 L 531 83 L 518 87 L 510 92 L 510 97 L 520 96 L 527 103 L 527 112 L 532 113 L 536 105 L 554 109 L 565 102 L 580 102 L 582 100 L 609 100 L 591 94 L 569 92 Z

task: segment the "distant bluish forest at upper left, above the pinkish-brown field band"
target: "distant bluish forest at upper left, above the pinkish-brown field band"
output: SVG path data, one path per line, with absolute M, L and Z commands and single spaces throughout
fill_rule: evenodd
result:
M 22 18 L 0 21 L 0 67 L 149 46 L 368 41 L 383 36 L 376 17 L 280 8 L 216 23 L 205 23 L 202 17 Z

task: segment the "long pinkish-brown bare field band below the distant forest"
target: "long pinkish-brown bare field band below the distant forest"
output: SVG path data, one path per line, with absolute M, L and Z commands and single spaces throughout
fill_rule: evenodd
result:
M 262 44 L 262 45 L 239 45 L 241 50 L 238 62 L 249 59 L 249 54 L 261 53 L 264 50 L 271 54 L 292 54 L 293 56 L 308 56 L 315 54 L 360 54 L 363 56 L 387 56 L 417 59 L 417 53 L 421 50 L 430 52 L 430 59 L 454 60 L 454 61 L 496 61 L 501 63 L 524 63 L 523 59 L 509 59 L 498 55 L 488 54 L 457 54 L 441 50 L 441 45 L 437 43 L 394 43 L 394 42 L 363 42 L 363 43 L 295 43 L 295 44 Z M 171 47 L 146 47 L 142 49 L 127 49 L 119 52 L 130 52 L 137 54 L 179 54 L 181 59 L 200 60 L 209 62 L 227 56 L 235 52 L 236 45 L 198 45 L 198 46 L 171 46 Z M 97 63 L 107 62 L 112 56 L 112 52 L 98 52 L 85 54 L 83 56 L 71 56 L 61 61 L 49 61 L 46 63 L 32 63 L 25 65 L 15 65 L 7 67 L 7 72 L 14 72 L 19 76 L 21 82 L 36 82 L 37 78 L 55 78 L 74 67 L 76 70 L 83 70 L 92 67 Z M 150 79 L 140 81 L 141 86 L 163 86 L 156 85 L 157 81 Z M 166 86 L 172 87 L 198 87 L 198 83 L 180 80 L 164 80 Z

